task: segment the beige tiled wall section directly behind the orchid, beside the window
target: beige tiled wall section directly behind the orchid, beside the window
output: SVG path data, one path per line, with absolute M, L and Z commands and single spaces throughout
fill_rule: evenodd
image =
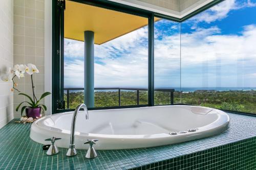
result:
M 44 8 L 44 0 L 14 0 L 13 63 L 37 66 L 39 74 L 33 76 L 36 96 L 44 92 Z M 32 94 L 28 75 L 18 80 L 18 89 Z M 20 117 L 20 112 L 16 112 L 15 108 L 24 100 L 23 96 L 14 92 L 14 117 Z

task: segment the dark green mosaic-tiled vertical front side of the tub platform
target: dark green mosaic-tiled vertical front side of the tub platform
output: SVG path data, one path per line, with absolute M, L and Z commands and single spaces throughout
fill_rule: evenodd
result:
M 142 169 L 256 169 L 256 137 L 155 162 Z

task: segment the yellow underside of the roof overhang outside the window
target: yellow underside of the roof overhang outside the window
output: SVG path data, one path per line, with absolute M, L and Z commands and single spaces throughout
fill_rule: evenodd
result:
M 147 25 L 144 17 L 72 1 L 66 1 L 64 18 L 65 38 L 84 41 L 84 31 L 93 31 L 95 44 L 108 42 Z

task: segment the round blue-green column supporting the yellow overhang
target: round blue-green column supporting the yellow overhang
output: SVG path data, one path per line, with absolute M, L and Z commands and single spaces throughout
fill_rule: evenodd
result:
M 94 107 L 94 32 L 84 31 L 84 103 Z

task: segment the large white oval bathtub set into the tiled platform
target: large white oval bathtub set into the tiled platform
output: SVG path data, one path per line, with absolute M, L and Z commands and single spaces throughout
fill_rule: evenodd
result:
M 61 137 L 56 145 L 68 148 L 73 112 L 45 116 L 36 120 L 30 137 L 49 144 L 45 139 Z M 155 106 L 132 109 L 93 110 L 89 119 L 80 111 L 76 119 L 75 147 L 88 149 L 87 139 L 99 139 L 97 150 L 156 147 L 220 134 L 228 129 L 229 116 L 217 109 L 197 106 Z M 187 132 L 196 129 L 196 132 Z M 181 132 L 169 135 L 169 132 Z

